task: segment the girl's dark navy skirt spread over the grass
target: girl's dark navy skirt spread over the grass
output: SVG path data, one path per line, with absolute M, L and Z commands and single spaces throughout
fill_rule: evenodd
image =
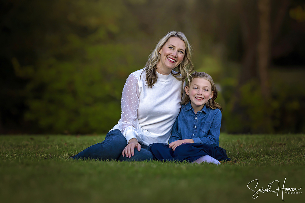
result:
M 173 151 L 168 144 L 153 143 L 149 145 L 149 149 L 152 152 L 153 158 L 156 160 L 193 162 L 205 155 L 209 155 L 218 161 L 231 160 L 223 148 L 218 146 L 211 147 L 206 144 L 183 143 Z

